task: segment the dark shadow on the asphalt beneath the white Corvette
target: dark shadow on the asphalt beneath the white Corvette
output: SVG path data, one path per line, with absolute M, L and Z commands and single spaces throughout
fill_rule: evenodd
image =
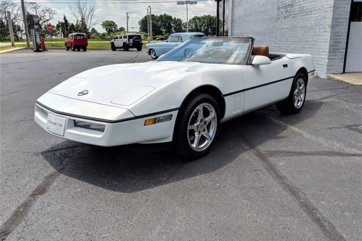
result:
M 250 150 L 241 135 L 253 137 L 258 128 L 262 131 L 260 128 L 275 125 L 269 116 L 295 125 L 312 118 L 322 106 L 320 101 L 308 102 L 293 116 L 280 114 L 275 106 L 270 106 L 226 122 L 220 125 L 218 139 L 209 155 L 194 161 L 185 161 L 172 150 L 160 149 L 159 145 L 98 147 L 73 141 L 59 143 L 43 151 L 42 156 L 63 175 L 112 191 L 132 193 L 225 167 Z M 271 132 L 263 132 L 257 137 L 256 146 L 287 138 L 279 136 L 284 130 L 285 127 L 280 125 Z

